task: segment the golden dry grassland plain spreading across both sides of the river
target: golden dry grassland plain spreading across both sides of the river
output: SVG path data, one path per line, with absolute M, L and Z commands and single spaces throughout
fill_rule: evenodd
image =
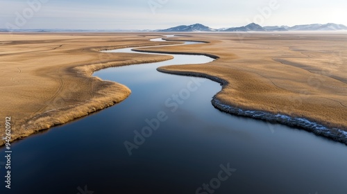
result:
M 160 35 L 0 34 L 0 119 L 12 116 L 12 139 L 67 123 L 124 100 L 130 89 L 94 78 L 92 72 L 171 57 L 98 51 L 177 43 L 149 42 Z M 269 112 L 347 130 L 347 34 L 185 35 L 172 39 L 208 43 L 137 50 L 203 53 L 218 58 L 209 64 L 174 65 L 158 70 L 221 82 L 223 90 L 214 96 L 212 103 L 223 111 L 228 112 L 224 107 L 229 106 Z

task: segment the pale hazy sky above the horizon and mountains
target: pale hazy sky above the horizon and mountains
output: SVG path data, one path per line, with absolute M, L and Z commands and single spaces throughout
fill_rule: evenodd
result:
M 346 0 L 0 0 L 0 28 L 158 29 L 337 23 Z

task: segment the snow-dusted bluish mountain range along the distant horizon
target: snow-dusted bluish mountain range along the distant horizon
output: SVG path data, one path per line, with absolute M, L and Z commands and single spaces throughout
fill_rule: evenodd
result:
M 164 30 L 156 30 L 158 32 L 265 32 L 265 31 L 299 31 L 299 30 L 347 30 L 347 26 L 342 24 L 307 24 L 297 26 L 260 26 L 255 23 L 248 24 L 247 26 L 233 27 L 233 28 L 220 28 L 213 29 L 203 24 L 193 24 L 190 26 L 176 26 Z

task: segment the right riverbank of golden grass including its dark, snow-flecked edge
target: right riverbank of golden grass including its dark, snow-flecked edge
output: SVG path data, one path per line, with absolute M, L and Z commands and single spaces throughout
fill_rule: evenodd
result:
M 266 35 L 255 35 L 258 38 L 262 36 L 266 37 Z M 340 79 L 344 78 L 347 73 L 344 70 L 346 57 L 341 54 L 342 51 L 346 51 L 346 48 L 344 46 L 341 46 L 341 49 L 336 48 L 337 39 L 346 41 L 346 35 L 314 35 L 301 42 L 293 42 L 293 39 L 298 39 L 303 35 L 282 34 L 278 36 L 283 37 L 273 39 L 272 42 L 276 43 L 271 44 L 273 48 L 264 46 L 266 41 L 261 39 L 259 42 L 262 45 L 257 45 L 255 44 L 257 42 L 252 41 L 249 42 L 253 45 L 249 42 L 237 42 L 234 39 L 230 41 L 228 51 L 232 51 L 232 55 L 236 56 L 228 61 L 223 61 L 230 57 L 226 52 L 214 51 L 214 41 L 218 40 L 217 37 L 214 37 L 211 39 L 210 48 L 202 48 L 200 51 L 194 48 L 194 52 L 213 53 L 212 55 L 219 56 L 219 60 L 212 62 L 210 66 L 169 66 L 160 67 L 158 71 L 199 76 L 221 83 L 223 90 L 214 96 L 212 105 L 223 112 L 299 127 L 319 136 L 347 144 L 347 109 L 344 98 L 346 82 Z M 321 42 L 316 42 L 318 38 L 322 39 Z M 203 39 L 206 40 L 205 37 Z M 246 40 L 244 39 L 244 41 Z M 289 43 L 291 46 L 283 49 L 285 44 Z M 324 45 L 325 50 L 321 51 L 319 44 Z M 279 45 L 283 48 L 276 48 Z M 257 50 L 255 58 L 262 57 L 264 61 L 255 61 L 252 59 L 253 57 L 246 60 L 240 59 L 241 55 L 246 53 L 251 55 L 255 52 L 249 48 L 255 46 L 263 47 L 265 52 Z M 293 49 L 294 46 L 298 48 Z M 225 49 L 226 46 L 222 48 Z M 311 48 L 316 48 L 316 51 Z M 283 53 L 276 51 L 277 49 Z M 151 49 L 151 51 L 156 50 L 158 49 Z M 177 48 L 172 51 L 173 49 L 167 48 L 166 50 L 174 53 L 181 49 Z M 289 53 L 288 51 L 291 50 L 300 51 L 300 53 Z M 163 50 L 160 51 L 163 52 Z M 193 49 L 187 48 L 185 51 L 189 53 Z M 266 53 L 266 51 L 271 52 Z M 281 57 L 286 60 L 292 60 L 293 62 L 286 63 L 292 65 L 281 66 L 280 64 L 283 62 L 278 62 L 280 56 L 277 53 L 280 53 Z M 300 65 L 294 62 L 299 60 Z M 275 64 L 276 62 L 277 64 Z M 266 65 L 272 68 L 266 71 Z M 280 77 L 280 75 L 283 76 Z

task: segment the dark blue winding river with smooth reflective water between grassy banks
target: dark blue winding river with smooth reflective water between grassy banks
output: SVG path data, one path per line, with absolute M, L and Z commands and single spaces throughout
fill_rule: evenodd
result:
M 14 143 L 11 193 L 346 193 L 346 145 L 220 112 L 217 82 L 156 71 L 213 59 L 173 56 L 95 72 L 132 94 Z

